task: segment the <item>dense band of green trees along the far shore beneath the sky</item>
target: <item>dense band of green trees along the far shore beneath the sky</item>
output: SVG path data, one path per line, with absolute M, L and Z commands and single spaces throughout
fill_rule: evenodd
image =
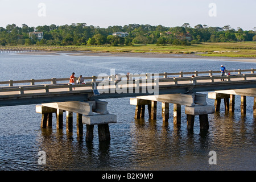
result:
M 43 39 L 30 36 L 29 32 L 44 33 Z M 114 32 L 127 32 L 129 36 L 121 38 L 112 35 Z M 22 27 L 8 24 L 0 27 L 0 46 L 39 45 L 39 46 L 131 46 L 133 44 L 159 44 L 189 46 L 201 42 L 245 42 L 256 41 L 256 28 L 250 31 L 237 30 L 229 25 L 224 27 L 208 27 L 197 24 L 191 27 L 184 23 L 180 27 L 164 27 L 162 25 L 129 24 L 125 26 L 109 26 L 108 28 L 87 26 L 86 23 L 72 23 L 63 26 Z

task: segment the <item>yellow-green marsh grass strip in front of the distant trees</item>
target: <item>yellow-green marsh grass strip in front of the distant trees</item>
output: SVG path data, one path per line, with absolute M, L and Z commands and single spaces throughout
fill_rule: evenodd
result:
M 137 44 L 134 46 L 6 46 L 0 49 L 36 49 L 42 51 L 80 51 L 96 53 L 157 53 L 195 54 L 208 57 L 256 57 L 256 42 L 201 43 L 192 46 L 158 46 Z

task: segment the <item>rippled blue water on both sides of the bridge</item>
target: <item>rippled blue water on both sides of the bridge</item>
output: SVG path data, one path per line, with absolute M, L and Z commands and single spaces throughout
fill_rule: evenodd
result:
M 224 64 L 229 70 L 255 68 L 254 63 L 213 59 L 86 57 L 62 54 L 18 55 L 0 54 L 0 81 L 30 80 L 76 76 L 97 76 L 100 73 L 163 73 L 218 70 Z M 98 142 L 97 126 L 94 140 L 85 142 L 85 135 L 76 135 L 76 115 L 73 133 L 41 129 L 42 115 L 35 105 L 0 107 L 0 170 L 255 170 L 255 129 L 253 98 L 247 97 L 247 114 L 241 115 L 240 97 L 236 97 L 233 114 L 225 113 L 222 101 L 220 113 L 209 114 L 209 131 L 202 133 L 199 118 L 194 130 L 187 130 L 184 106 L 181 106 L 181 127 L 170 119 L 163 123 L 158 104 L 156 121 L 134 119 L 135 106 L 129 98 L 106 100 L 108 110 L 117 115 L 110 124 L 110 142 Z M 207 100 L 213 105 L 213 100 Z M 146 109 L 147 110 L 147 109 Z M 53 116 L 55 116 L 53 114 Z M 65 115 L 64 115 L 65 117 Z M 85 133 L 86 127 L 84 127 Z M 46 164 L 38 163 L 38 152 L 46 152 Z M 216 151 L 217 164 L 210 165 L 209 152 Z

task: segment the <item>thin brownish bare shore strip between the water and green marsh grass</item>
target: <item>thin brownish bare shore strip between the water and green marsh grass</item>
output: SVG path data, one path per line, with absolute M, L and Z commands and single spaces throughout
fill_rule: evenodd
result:
M 135 52 L 122 52 L 122 53 L 106 53 L 106 52 L 92 52 L 92 51 L 42 51 L 42 52 L 21 52 L 17 54 L 23 55 L 61 55 L 68 54 L 71 56 L 100 56 L 100 57 L 155 57 L 155 58 L 192 58 L 192 59 L 217 59 L 224 61 L 239 61 L 239 62 L 249 62 L 256 63 L 255 58 L 247 57 L 210 57 L 210 56 L 200 56 L 199 54 L 174 54 L 174 53 L 135 53 Z

